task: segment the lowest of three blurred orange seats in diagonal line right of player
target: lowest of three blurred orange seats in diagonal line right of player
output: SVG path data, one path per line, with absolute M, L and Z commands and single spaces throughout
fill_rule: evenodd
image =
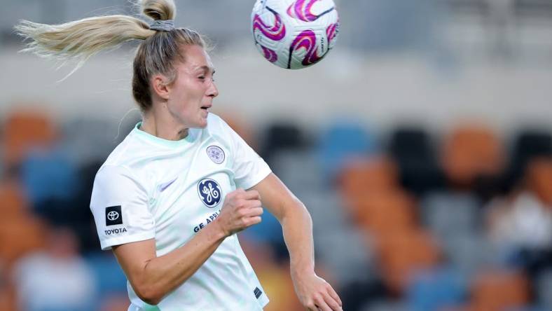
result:
M 375 244 L 384 282 L 394 293 L 403 291 L 415 270 L 432 267 L 441 257 L 434 237 L 423 230 L 398 230 Z

